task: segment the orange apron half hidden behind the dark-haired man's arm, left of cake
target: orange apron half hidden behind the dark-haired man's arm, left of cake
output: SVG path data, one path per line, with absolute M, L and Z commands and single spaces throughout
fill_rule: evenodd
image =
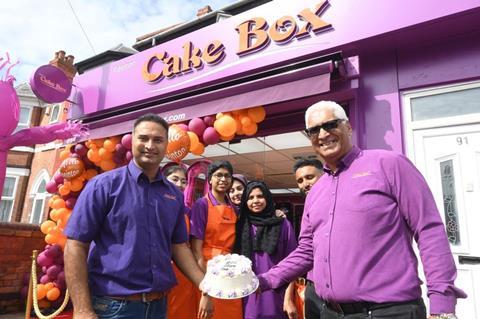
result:
M 190 221 L 185 215 L 187 234 L 190 233 Z M 173 263 L 173 271 L 178 284 L 168 293 L 167 318 L 195 319 L 197 318 L 198 302 L 196 302 L 197 289 L 195 285 L 183 275 Z

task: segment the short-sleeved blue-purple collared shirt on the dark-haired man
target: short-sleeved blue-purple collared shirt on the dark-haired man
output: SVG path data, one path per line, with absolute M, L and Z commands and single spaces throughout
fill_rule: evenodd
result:
M 88 256 L 93 295 L 166 291 L 177 282 L 172 244 L 187 241 L 183 194 L 158 172 L 149 182 L 133 161 L 90 180 L 65 235 L 92 242 Z

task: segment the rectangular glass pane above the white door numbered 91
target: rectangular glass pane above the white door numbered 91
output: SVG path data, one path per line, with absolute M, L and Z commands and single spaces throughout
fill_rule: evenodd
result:
M 432 94 L 433 93 L 433 94 Z M 480 113 L 480 87 L 437 90 L 410 100 L 412 121 Z

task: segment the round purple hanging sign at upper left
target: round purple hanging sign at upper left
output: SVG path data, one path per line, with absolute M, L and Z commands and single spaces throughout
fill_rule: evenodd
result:
M 65 101 L 72 91 L 72 82 L 57 67 L 43 65 L 30 78 L 33 93 L 46 103 L 60 103 Z

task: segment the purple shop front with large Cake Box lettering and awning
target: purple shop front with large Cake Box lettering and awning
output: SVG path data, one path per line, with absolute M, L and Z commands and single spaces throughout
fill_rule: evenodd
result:
M 182 122 L 264 105 L 268 119 L 335 100 L 357 145 L 404 153 L 403 92 L 480 78 L 479 4 L 272 1 L 76 76 L 71 117 L 96 138 L 130 131 L 147 112 Z M 301 129 L 298 119 L 277 116 L 257 134 Z

